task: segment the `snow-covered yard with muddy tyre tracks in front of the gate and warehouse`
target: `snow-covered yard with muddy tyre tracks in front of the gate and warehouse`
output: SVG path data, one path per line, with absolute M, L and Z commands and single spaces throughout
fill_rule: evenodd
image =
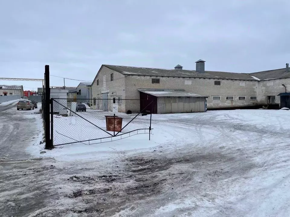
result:
M 143 134 L 44 154 L 32 142 L 27 152 L 35 165 L 24 170 L 26 176 L 7 168 L 12 177 L 21 174 L 23 186 L 9 197 L 1 191 L 0 208 L 21 209 L 21 200 L 36 196 L 45 203 L 23 216 L 289 216 L 289 111 L 208 111 L 152 120 L 150 141 Z M 27 185 L 33 189 L 21 194 Z

